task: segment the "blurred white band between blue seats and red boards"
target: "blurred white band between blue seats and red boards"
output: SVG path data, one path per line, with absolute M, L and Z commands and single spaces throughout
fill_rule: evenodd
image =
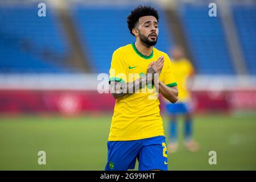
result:
M 108 74 L 0 74 L 0 89 L 97 90 L 102 81 L 109 86 Z M 195 91 L 256 90 L 256 76 L 197 75 L 190 84 Z

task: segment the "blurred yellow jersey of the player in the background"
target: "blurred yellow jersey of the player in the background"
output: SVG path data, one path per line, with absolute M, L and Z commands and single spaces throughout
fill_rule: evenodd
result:
M 190 100 L 190 94 L 187 88 L 188 78 L 194 72 L 193 66 L 187 59 L 173 60 L 172 70 L 176 78 L 177 88 L 179 90 L 179 101 L 187 102 Z M 167 101 L 168 102 L 168 101 Z

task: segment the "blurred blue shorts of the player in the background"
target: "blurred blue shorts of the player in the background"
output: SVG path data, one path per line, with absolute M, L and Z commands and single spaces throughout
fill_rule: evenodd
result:
M 191 111 L 187 102 L 166 104 L 166 110 L 168 114 L 187 114 Z

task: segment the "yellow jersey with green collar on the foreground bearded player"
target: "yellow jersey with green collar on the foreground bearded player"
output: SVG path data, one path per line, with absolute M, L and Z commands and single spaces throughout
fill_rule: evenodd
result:
M 144 56 L 134 44 L 114 51 L 109 71 L 110 81 L 134 81 L 140 75 L 146 74 L 148 65 L 160 56 L 164 56 L 164 66 L 159 80 L 167 86 L 176 86 L 168 55 L 153 48 L 150 56 Z M 146 93 L 142 93 L 141 89 L 139 93 L 127 94 L 115 101 L 109 141 L 137 140 L 164 135 L 163 122 L 159 114 L 159 99 L 154 97 L 155 88 L 146 85 L 145 89 Z

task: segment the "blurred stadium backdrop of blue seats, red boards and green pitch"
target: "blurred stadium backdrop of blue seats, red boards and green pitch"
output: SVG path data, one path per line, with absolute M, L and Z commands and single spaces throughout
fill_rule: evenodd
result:
M 255 1 L 2 0 L 1 170 L 104 170 L 115 100 L 98 93 L 98 74 L 108 74 L 115 49 L 135 42 L 126 17 L 138 5 L 159 11 L 155 47 L 170 57 L 183 47 L 196 71 L 189 88 L 201 147 L 168 155 L 169 169 L 256 169 Z

